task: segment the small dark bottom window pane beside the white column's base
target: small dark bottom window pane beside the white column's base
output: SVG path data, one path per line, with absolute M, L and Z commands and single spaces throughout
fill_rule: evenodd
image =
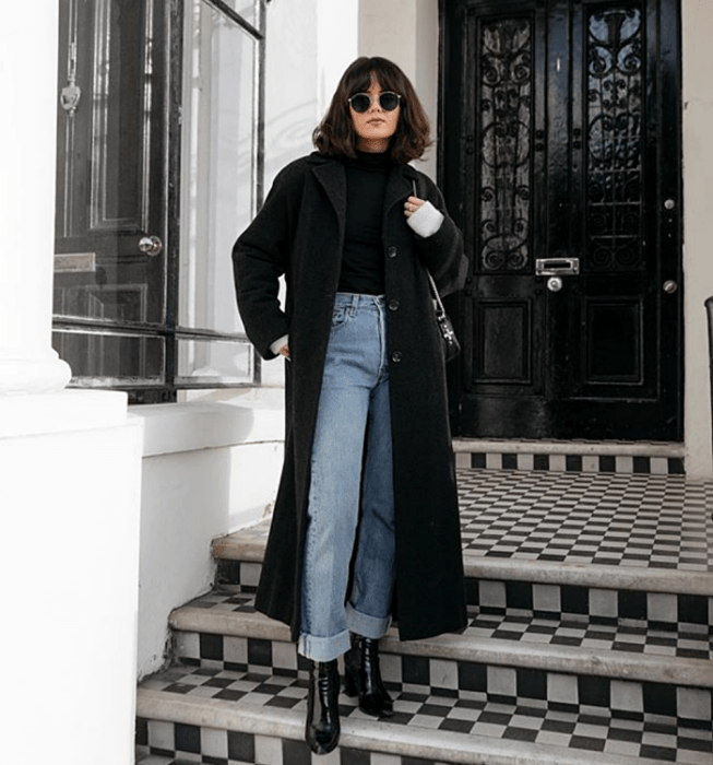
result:
M 72 382 L 90 387 L 164 382 L 164 342 L 163 338 L 139 334 L 52 333 L 54 349 L 72 367 Z

